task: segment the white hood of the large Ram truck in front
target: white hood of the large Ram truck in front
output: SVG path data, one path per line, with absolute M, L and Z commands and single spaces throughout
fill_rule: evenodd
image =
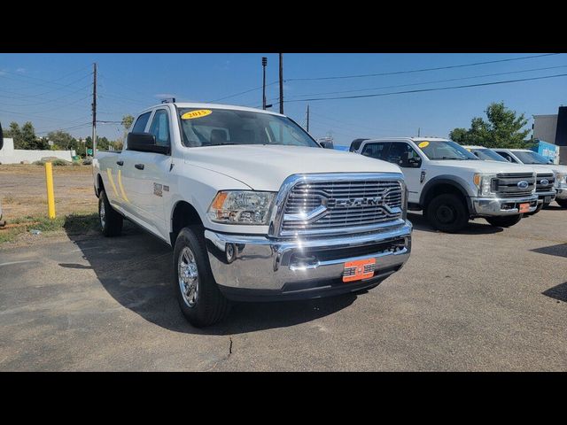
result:
M 228 145 L 190 148 L 185 162 L 244 182 L 255 190 L 277 191 L 291 174 L 401 173 L 400 167 L 353 152 L 283 145 Z

